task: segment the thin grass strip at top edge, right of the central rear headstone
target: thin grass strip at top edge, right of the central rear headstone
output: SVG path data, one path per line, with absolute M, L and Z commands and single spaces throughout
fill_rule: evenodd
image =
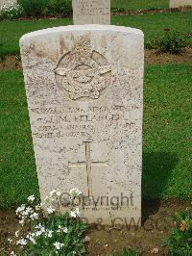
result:
M 111 7 L 125 10 L 168 9 L 169 0 L 111 0 Z

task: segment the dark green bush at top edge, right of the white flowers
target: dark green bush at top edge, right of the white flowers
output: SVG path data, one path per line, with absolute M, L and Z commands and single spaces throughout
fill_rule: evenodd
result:
M 17 0 L 27 16 L 37 17 L 43 14 L 50 0 Z

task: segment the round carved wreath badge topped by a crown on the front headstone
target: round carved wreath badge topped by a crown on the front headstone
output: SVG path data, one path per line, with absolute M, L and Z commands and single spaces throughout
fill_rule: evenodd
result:
M 89 37 L 80 37 L 73 49 L 61 57 L 55 70 L 60 90 L 72 100 L 98 99 L 108 90 L 111 67 L 92 49 Z

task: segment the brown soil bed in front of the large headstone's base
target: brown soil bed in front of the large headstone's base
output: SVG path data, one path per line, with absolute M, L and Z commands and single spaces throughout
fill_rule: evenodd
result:
M 174 228 L 172 216 L 186 208 L 192 210 L 190 202 L 144 201 L 142 227 L 135 225 L 130 228 L 126 219 L 113 227 L 92 225 L 86 234 L 87 255 L 109 255 L 109 252 L 129 247 L 142 255 L 167 255 L 168 249 L 162 246 L 163 238 Z M 18 227 L 14 210 L 0 211 L 0 255 L 9 255 L 8 238 L 12 238 Z

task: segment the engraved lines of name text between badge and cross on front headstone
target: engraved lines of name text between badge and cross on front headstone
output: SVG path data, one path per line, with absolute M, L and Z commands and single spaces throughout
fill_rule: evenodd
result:
M 120 133 L 124 133 L 130 128 L 134 128 L 134 123 L 129 122 L 124 114 L 138 109 L 138 106 L 127 108 L 125 106 L 114 105 L 111 109 L 108 107 L 92 106 L 84 114 L 84 109 L 68 108 L 66 110 L 57 108 L 31 109 L 37 116 L 38 125 L 33 135 L 36 138 L 60 138 L 60 137 L 82 137 L 95 134 L 94 125 L 105 122 L 101 129 L 121 128 Z M 39 115 L 42 118 L 39 118 Z M 60 123 L 60 128 L 56 128 L 56 123 Z

